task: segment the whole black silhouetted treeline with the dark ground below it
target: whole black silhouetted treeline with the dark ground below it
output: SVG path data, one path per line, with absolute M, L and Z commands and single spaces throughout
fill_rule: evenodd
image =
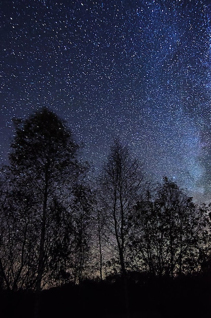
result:
M 14 124 L 0 180 L 3 317 L 205 314 L 209 205 L 150 181 L 118 138 L 91 179 L 46 108 Z

